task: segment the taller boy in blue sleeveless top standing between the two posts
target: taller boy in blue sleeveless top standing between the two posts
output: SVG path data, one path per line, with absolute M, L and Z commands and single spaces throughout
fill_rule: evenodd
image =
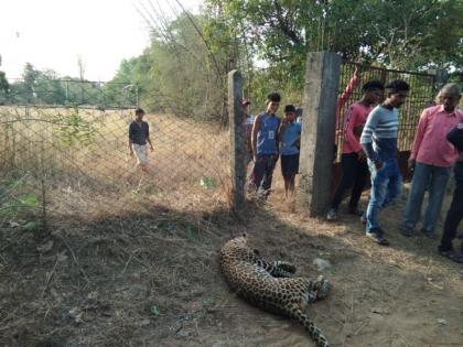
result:
M 267 96 L 267 111 L 257 116 L 252 127 L 254 169 L 249 189 L 261 191 L 263 199 L 270 194 L 274 164 L 278 161 L 278 128 L 280 119 L 274 115 L 280 106 L 281 96 L 270 93 Z

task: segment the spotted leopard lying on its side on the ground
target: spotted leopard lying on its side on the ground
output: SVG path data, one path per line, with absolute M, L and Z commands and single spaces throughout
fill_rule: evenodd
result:
M 300 323 L 319 347 L 330 343 L 304 310 L 325 299 L 331 283 L 320 275 L 315 281 L 295 276 L 295 267 L 287 261 L 268 261 L 248 245 L 246 235 L 225 242 L 219 264 L 226 282 L 240 297 L 267 312 Z

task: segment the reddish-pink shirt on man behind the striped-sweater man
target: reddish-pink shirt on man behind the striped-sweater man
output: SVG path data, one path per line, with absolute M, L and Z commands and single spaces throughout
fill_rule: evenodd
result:
M 363 150 L 360 135 L 372 109 L 372 106 L 366 106 L 357 101 L 354 102 L 345 112 L 343 127 L 343 154 Z

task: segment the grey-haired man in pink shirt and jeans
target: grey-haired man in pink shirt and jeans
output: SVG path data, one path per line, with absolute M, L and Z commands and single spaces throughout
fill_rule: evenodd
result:
M 445 137 L 463 118 L 463 112 L 457 109 L 460 97 L 460 86 L 446 84 L 438 94 L 438 105 L 424 109 L 420 117 L 409 159 L 413 178 L 400 230 L 407 237 L 414 235 L 429 185 L 429 200 L 421 231 L 429 238 L 437 238 L 435 223 L 441 214 L 445 186 L 451 169 L 459 159 L 457 150 Z

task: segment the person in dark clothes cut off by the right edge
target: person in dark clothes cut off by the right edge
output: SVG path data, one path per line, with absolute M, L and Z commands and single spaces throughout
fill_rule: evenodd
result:
M 452 204 L 445 217 L 444 230 L 438 251 L 439 254 L 450 260 L 463 263 L 463 243 L 460 251 L 455 251 L 452 245 L 452 240 L 456 235 L 456 228 L 463 219 L 463 119 L 460 119 L 459 126 L 449 132 L 446 139 L 459 150 L 460 156 L 453 169 L 456 185 Z

